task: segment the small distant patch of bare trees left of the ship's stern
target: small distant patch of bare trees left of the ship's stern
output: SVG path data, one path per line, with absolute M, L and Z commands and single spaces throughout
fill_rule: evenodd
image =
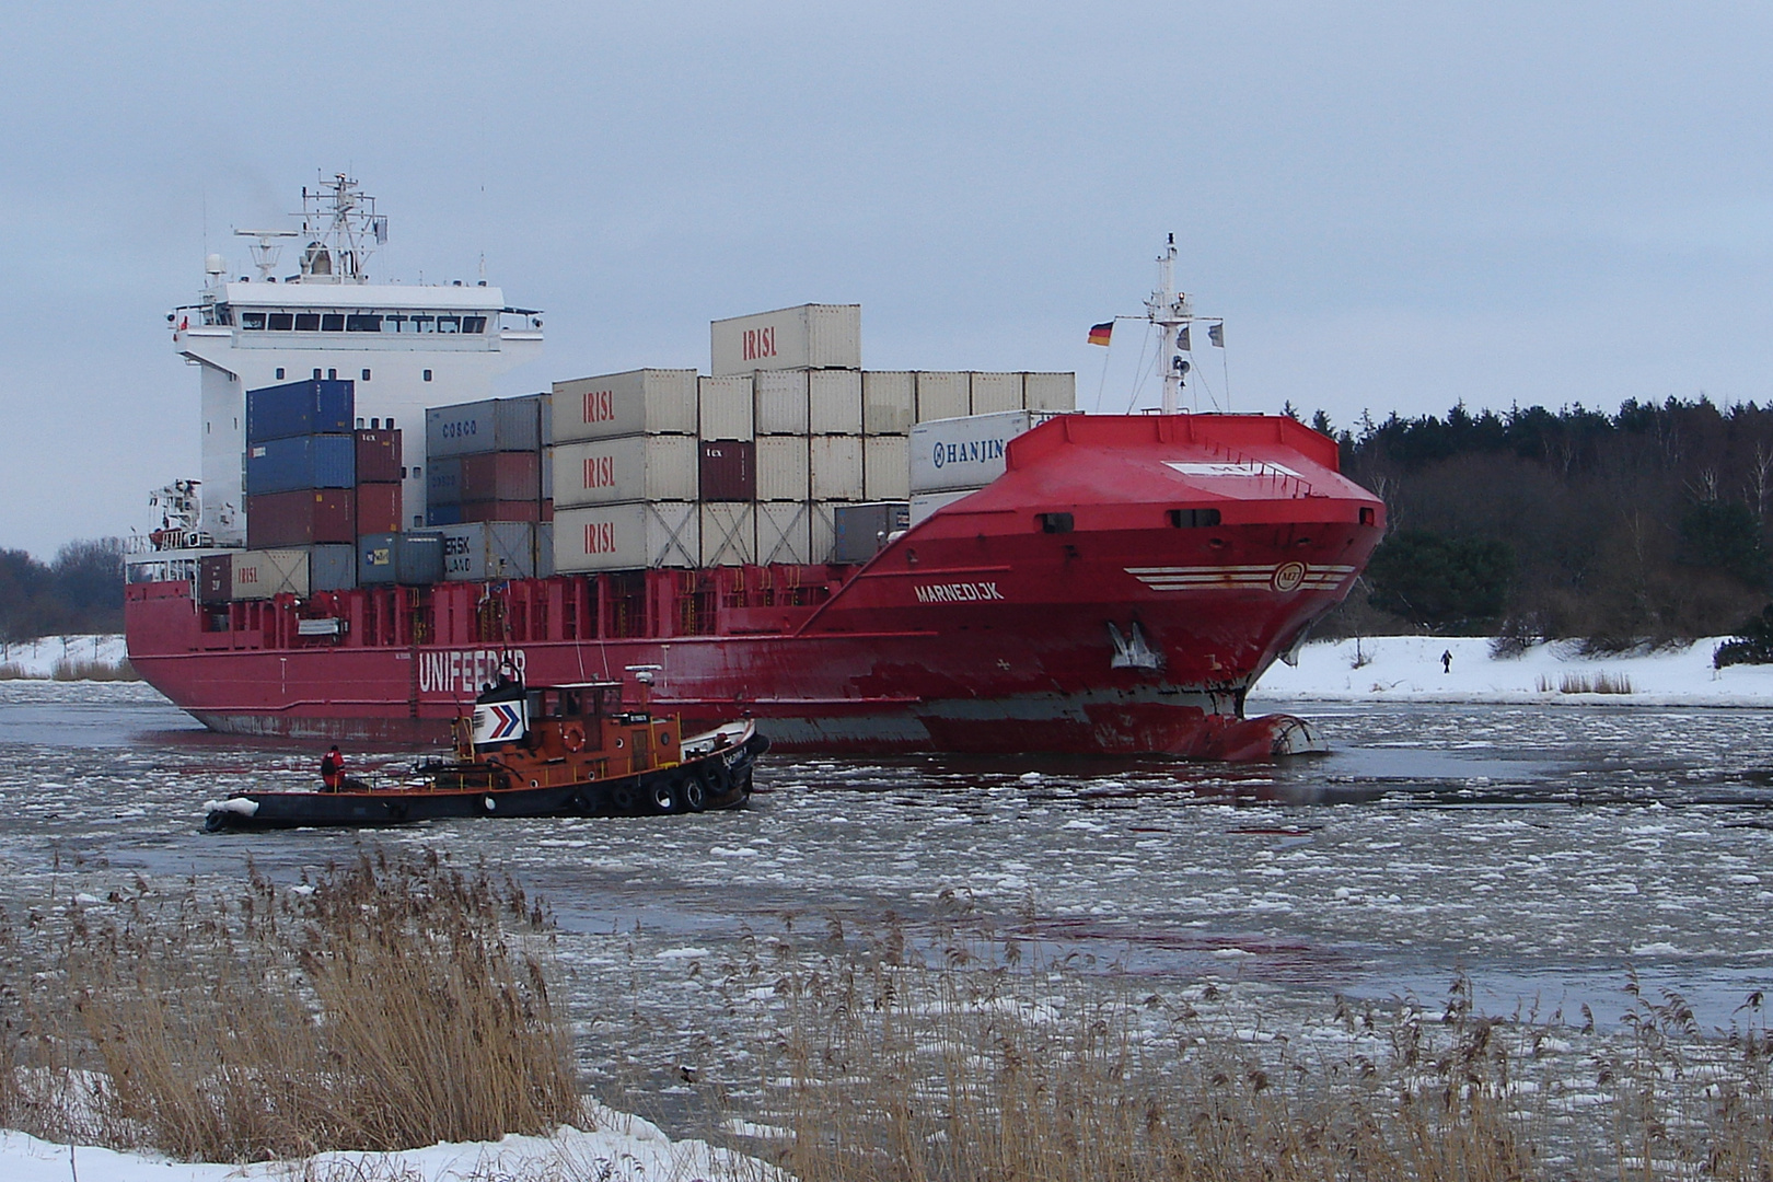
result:
M 0 549 L 0 640 L 122 631 L 122 539 L 69 542 L 53 562 Z

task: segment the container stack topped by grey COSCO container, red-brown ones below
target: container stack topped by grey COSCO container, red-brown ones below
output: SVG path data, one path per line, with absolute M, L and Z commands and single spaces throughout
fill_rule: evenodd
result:
M 441 539 L 440 578 L 553 574 L 551 443 L 548 393 L 426 411 L 426 523 Z M 411 562 L 429 556 L 415 551 Z

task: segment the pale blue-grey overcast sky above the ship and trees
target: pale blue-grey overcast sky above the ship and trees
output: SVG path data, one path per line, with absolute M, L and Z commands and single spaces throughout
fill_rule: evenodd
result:
M 871 369 L 1122 411 L 1167 232 L 1213 395 L 1339 424 L 1773 399 L 1766 4 L 82 4 L 0 39 L 0 548 L 197 475 L 165 314 L 348 170 L 378 278 L 546 310 L 502 392 L 863 305 Z M 1147 383 L 1142 404 L 1156 399 Z

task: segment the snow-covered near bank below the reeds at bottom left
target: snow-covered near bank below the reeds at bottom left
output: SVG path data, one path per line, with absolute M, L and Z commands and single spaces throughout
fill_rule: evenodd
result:
M 509 1136 L 502 1141 L 433 1145 L 399 1154 L 319 1154 L 287 1163 L 250 1166 L 176 1163 L 152 1154 L 119 1154 L 67 1147 L 23 1132 L 0 1132 L 0 1178 L 7 1182 L 238 1182 L 239 1178 L 378 1178 L 401 1182 L 468 1182 L 479 1178 L 608 1178 L 608 1182 L 787 1182 L 778 1170 L 706 1141 L 672 1141 L 658 1125 L 613 1109 L 596 1109 L 598 1131 L 562 1127 L 551 1138 Z M 73 1173 L 73 1171 L 78 1171 Z

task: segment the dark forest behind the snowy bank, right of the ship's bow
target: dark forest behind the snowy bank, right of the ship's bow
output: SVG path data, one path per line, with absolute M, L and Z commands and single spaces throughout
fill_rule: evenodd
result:
M 1610 650 L 1741 631 L 1773 590 L 1773 406 L 1626 400 L 1337 431 L 1386 537 L 1326 633 L 1580 638 Z

